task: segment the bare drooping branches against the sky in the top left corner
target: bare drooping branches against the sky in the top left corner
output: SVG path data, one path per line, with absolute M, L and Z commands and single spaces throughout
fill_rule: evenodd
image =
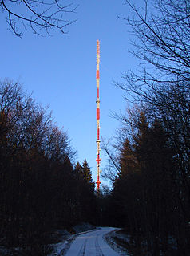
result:
M 50 35 L 50 30 L 65 34 L 65 27 L 74 22 L 66 14 L 73 13 L 77 5 L 63 0 L 1 0 L 0 8 L 6 14 L 10 30 L 22 37 L 22 30 L 27 27 L 38 35 Z

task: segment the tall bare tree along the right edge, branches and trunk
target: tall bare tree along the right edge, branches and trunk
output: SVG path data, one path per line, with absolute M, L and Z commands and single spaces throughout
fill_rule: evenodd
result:
M 177 205 L 179 222 L 173 233 L 179 254 L 188 255 L 185 249 L 188 236 L 183 230 L 188 230 L 190 207 L 189 1 L 144 0 L 141 8 L 132 0 L 125 2 L 133 10 L 133 17 L 123 19 L 132 30 L 132 54 L 140 66 L 126 72 L 125 82 L 117 86 L 125 91 L 127 100 L 147 110 L 148 120 L 160 121 L 168 136 L 168 145 L 174 150 L 174 168 L 168 179 L 175 182 L 172 198 Z M 121 118 L 130 124 L 128 117 Z

